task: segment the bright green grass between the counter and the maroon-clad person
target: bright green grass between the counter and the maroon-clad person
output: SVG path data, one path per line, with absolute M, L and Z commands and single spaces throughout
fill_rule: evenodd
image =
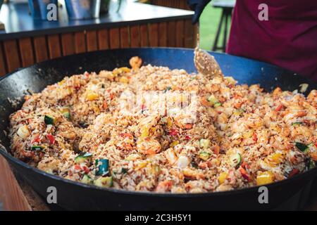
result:
M 221 16 L 221 8 L 213 8 L 209 4 L 204 9 L 200 18 L 200 35 L 201 35 L 201 49 L 211 50 L 213 46 L 213 41 L 216 37 L 216 32 L 218 28 L 218 23 Z M 230 25 L 228 25 L 228 34 L 230 31 Z M 220 34 L 220 39 L 218 44 L 220 44 L 223 39 L 223 32 Z

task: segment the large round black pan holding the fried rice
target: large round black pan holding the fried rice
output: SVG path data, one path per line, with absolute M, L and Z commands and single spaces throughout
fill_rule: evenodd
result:
M 235 77 L 240 84 L 261 84 L 268 91 L 275 86 L 293 91 L 299 88 L 299 84 L 308 83 L 308 91 L 317 89 L 315 83 L 273 65 L 220 53 L 214 55 L 224 74 Z M 8 98 L 21 97 L 27 89 L 41 91 L 45 86 L 58 82 L 66 75 L 82 73 L 85 70 L 99 72 L 99 70 L 127 66 L 132 56 L 142 57 L 144 64 L 183 68 L 188 72 L 194 72 L 193 51 L 189 49 L 97 51 L 49 60 L 18 70 L 1 79 L 0 130 L 7 129 L 8 117 L 15 111 Z M 0 139 L 9 151 L 9 140 L 2 132 Z M 0 153 L 45 199 L 48 195 L 47 188 L 56 187 L 58 205 L 68 210 L 263 210 L 276 207 L 296 209 L 306 202 L 311 183 L 317 176 L 317 168 L 315 168 L 292 179 L 268 185 L 269 203 L 260 204 L 258 200 L 260 193 L 256 187 L 223 193 L 180 195 L 117 191 L 61 179 L 26 165 L 6 153 L 4 149 L 0 150 Z M 289 207 L 285 208 L 285 205 Z

